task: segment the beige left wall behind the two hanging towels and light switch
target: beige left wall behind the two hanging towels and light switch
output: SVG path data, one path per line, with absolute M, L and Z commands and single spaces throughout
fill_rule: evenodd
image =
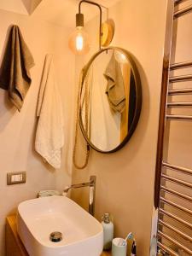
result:
M 24 107 L 18 113 L 7 101 L 6 92 L 0 89 L 0 255 L 4 255 L 5 217 L 26 199 L 36 197 L 40 189 L 63 189 L 71 183 L 71 144 L 73 131 L 73 67 L 74 57 L 67 48 L 69 31 L 33 16 L 16 15 L 0 10 L 0 53 L 7 29 L 11 24 L 20 26 L 35 60 L 32 68 L 32 86 L 26 96 Z M 45 166 L 33 150 L 36 126 L 39 82 L 44 56 L 54 54 L 55 70 L 61 90 L 65 122 L 65 146 L 61 170 L 53 171 Z M 26 183 L 6 185 L 7 172 L 26 171 Z

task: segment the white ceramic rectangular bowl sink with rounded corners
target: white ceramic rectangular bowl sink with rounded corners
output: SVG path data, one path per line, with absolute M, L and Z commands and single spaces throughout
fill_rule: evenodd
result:
M 102 224 L 65 196 L 23 201 L 18 207 L 17 229 L 30 256 L 100 256 Z M 62 240 L 49 240 L 52 232 Z

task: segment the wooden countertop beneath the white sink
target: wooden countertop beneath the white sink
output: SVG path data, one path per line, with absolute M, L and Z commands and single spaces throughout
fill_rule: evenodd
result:
M 9 216 L 6 219 L 6 252 L 7 256 L 29 256 L 17 234 L 15 215 Z M 111 256 L 111 253 L 103 252 L 101 256 Z

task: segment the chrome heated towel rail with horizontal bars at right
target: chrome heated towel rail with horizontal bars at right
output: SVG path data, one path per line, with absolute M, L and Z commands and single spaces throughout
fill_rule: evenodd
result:
M 192 166 L 190 169 L 168 162 L 167 147 L 169 146 L 169 137 L 166 135 L 167 129 L 169 134 L 171 132 L 171 121 L 192 121 L 192 115 L 173 114 L 171 111 L 173 108 L 190 108 L 192 107 L 192 102 L 170 101 L 170 99 L 172 100 L 172 96 L 192 95 L 192 74 L 171 75 L 175 70 L 192 67 L 192 61 L 171 64 L 172 47 L 175 44 L 175 34 L 177 33 L 173 31 L 173 27 L 177 30 L 177 26 L 174 26 L 174 23 L 180 17 L 183 17 L 183 15 L 192 15 L 192 4 L 184 8 L 179 8 L 180 3 L 187 2 L 186 0 L 168 0 L 166 44 L 160 98 L 160 125 L 154 185 L 154 206 L 159 209 L 157 244 L 161 252 L 165 255 L 174 256 L 192 255 Z M 175 89 L 171 86 L 171 84 L 178 82 L 190 82 L 191 88 L 183 88 L 181 85 Z M 192 137 L 192 132 L 189 136 Z M 192 152 L 189 154 L 191 154 L 192 158 Z M 185 193 L 186 189 L 188 189 L 188 193 Z

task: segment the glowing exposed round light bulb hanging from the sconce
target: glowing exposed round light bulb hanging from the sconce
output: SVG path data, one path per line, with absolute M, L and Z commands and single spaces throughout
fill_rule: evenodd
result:
M 83 26 L 77 26 L 69 38 L 69 48 L 75 55 L 84 55 L 90 50 L 88 35 Z

